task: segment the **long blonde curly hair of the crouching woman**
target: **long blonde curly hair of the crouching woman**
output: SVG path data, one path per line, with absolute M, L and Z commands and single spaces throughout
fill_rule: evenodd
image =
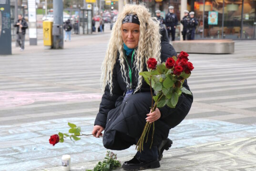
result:
M 107 47 L 106 56 L 102 63 L 102 88 L 109 85 L 110 94 L 112 95 L 113 89 L 113 68 L 117 60 L 117 54 L 119 53 L 119 60 L 121 65 L 121 72 L 123 80 L 127 87 L 129 86 L 127 71 L 125 70 L 125 55 L 123 53 L 123 38 L 122 38 L 122 20 L 128 14 L 137 15 L 140 21 L 140 37 L 138 47 L 135 48 L 135 70 L 137 73 L 143 71 L 145 62 L 150 58 L 154 57 L 157 62 L 161 62 L 160 51 L 161 51 L 161 34 L 159 22 L 151 17 L 148 9 L 141 5 L 125 5 L 123 12 L 118 15 L 116 20 L 111 38 Z M 149 68 L 147 68 L 149 70 Z M 143 82 L 143 77 L 137 75 L 138 84 L 134 92 L 140 90 Z

